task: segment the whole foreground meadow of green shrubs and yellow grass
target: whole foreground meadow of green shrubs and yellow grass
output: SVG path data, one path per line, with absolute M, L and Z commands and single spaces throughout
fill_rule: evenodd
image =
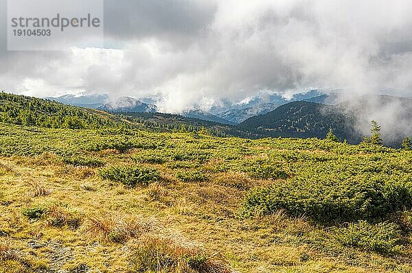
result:
M 0 272 L 412 270 L 410 150 L 46 127 L 0 123 Z

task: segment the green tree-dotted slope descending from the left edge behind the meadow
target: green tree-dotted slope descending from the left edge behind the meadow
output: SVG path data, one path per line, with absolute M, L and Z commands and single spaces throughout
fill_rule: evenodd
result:
M 0 122 L 44 128 L 100 129 L 136 128 L 156 132 L 200 131 L 220 137 L 235 134 L 232 126 L 180 115 L 150 112 L 113 112 L 69 106 L 47 99 L 0 93 Z

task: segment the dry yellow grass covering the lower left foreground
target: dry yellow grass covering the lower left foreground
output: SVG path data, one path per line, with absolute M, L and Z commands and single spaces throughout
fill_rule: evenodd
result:
M 104 156 L 111 163 L 113 154 Z M 69 271 L 82 264 L 95 272 L 124 272 L 138 252 L 141 257 L 151 255 L 150 261 L 172 257 L 170 266 L 163 259 L 156 263 L 163 271 L 155 272 L 408 272 L 412 268 L 407 261 L 336 249 L 305 217 L 294 219 L 278 211 L 269 217 L 239 219 L 247 190 L 269 183 L 242 173 L 186 183 L 159 167 L 169 182 L 130 189 L 107 184 L 93 168 L 88 176 L 82 171 L 63 175 L 67 166 L 53 160 L 43 164 L 39 158 L 53 156 L 0 158 L 12 170 L 0 176 L 0 234 L 8 241 L 0 251 L 1 259 L 7 259 L 1 262 L 8 268 L 3 272 L 25 268 L 19 259 L 32 272 L 59 267 Z M 37 184 L 27 181 L 38 183 L 42 190 L 34 194 Z M 43 194 L 49 189 L 53 191 Z M 33 194 L 27 197 L 27 192 Z M 24 217 L 21 211 L 33 205 L 47 206 L 47 215 L 37 220 Z M 81 219 L 78 228 L 67 224 L 73 212 Z M 135 272 L 147 266 L 138 260 L 132 265 Z

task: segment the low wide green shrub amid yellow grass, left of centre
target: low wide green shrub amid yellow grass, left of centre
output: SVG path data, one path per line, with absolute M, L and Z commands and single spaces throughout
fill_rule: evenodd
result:
M 130 187 L 135 185 L 147 186 L 160 178 L 157 169 L 141 166 L 108 167 L 101 169 L 99 174 L 103 179 L 122 182 Z

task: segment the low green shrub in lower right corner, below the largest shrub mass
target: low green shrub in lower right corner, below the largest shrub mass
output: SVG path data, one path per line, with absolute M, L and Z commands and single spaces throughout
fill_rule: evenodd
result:
M 366 221 L 336 228 L 336 239 L 344 246 L 354 246 L 379 253 L 396 253 L 402 246 L 400 229 L 396 224 L 382 222 L 369 224 Z

